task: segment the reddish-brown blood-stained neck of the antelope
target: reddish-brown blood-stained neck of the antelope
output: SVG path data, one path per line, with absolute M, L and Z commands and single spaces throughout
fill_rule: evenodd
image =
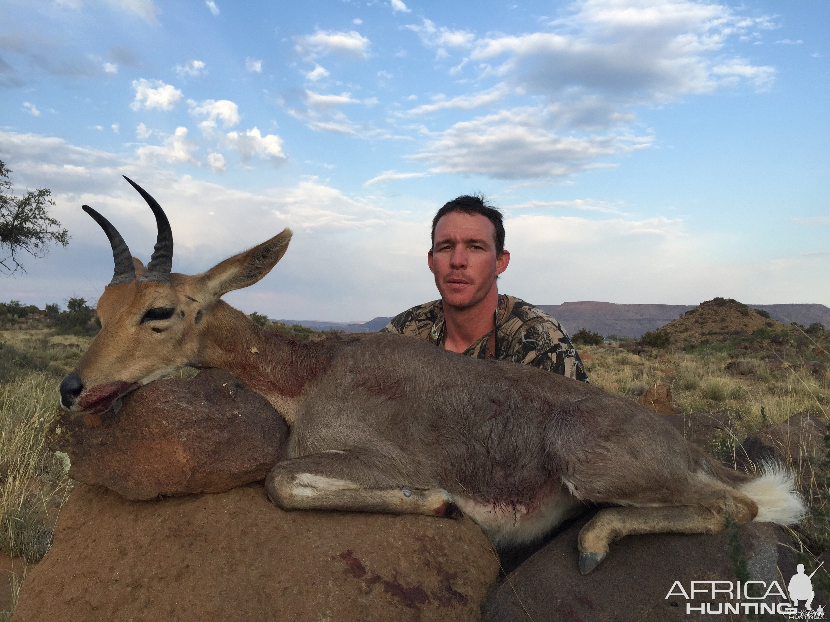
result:
M 231 372 L 286 417 L 292 415 L 305 386 L 327 369 L 334 350 L 354 338 L 331 336 L 304 341 L 271 333 L 223 300 L 207 313 L 194 367 Z

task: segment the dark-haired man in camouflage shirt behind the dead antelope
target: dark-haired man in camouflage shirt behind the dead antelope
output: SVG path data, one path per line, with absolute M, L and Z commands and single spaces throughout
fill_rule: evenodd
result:
M 524 300 L 499 294 L 496 278 L 509 263 L 501 212 L 481 197 L 448 202 L 432 219 L 427 253 L 441 299 L 400 313 L 383 332 L 587 382 L 579 354 L 559 322 Z

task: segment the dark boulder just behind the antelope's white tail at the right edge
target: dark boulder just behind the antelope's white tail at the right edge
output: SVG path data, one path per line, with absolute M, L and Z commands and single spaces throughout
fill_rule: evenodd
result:
M 822 458 L 826 448 L 824 425 L 816 415 L 799 412 L 778 425 L 753 432 L 735 449 L 735 467 L 752 471 L 769 460 L 778 460 L 793 468 L 798 489 L 809 501 L 818 495 L 822 474 L 810 458 Z

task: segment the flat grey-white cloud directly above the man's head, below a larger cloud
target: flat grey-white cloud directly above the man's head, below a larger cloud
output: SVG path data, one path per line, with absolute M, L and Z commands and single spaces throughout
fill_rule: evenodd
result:
M 647 148 L 652 138 L 624 134 L 560 136 L 544 127 L 544 110 L 501 110 L 452 125 L 421 153 L 432 173 L 475 173 L 496 179 L 563 177 L 613 163 L 596 163 Z

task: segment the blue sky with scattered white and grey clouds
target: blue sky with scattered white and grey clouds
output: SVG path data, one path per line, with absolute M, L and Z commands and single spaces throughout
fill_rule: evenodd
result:
M 0 2 L 0 159 L 72 240 L 0 299 L 96 299 L 101 211 L 196 273 L 290 226 L 227 299 L 348 321 L 437 297 L 429 225 L 484 192 L 500 291 L 830 305 L 828 2 Z

